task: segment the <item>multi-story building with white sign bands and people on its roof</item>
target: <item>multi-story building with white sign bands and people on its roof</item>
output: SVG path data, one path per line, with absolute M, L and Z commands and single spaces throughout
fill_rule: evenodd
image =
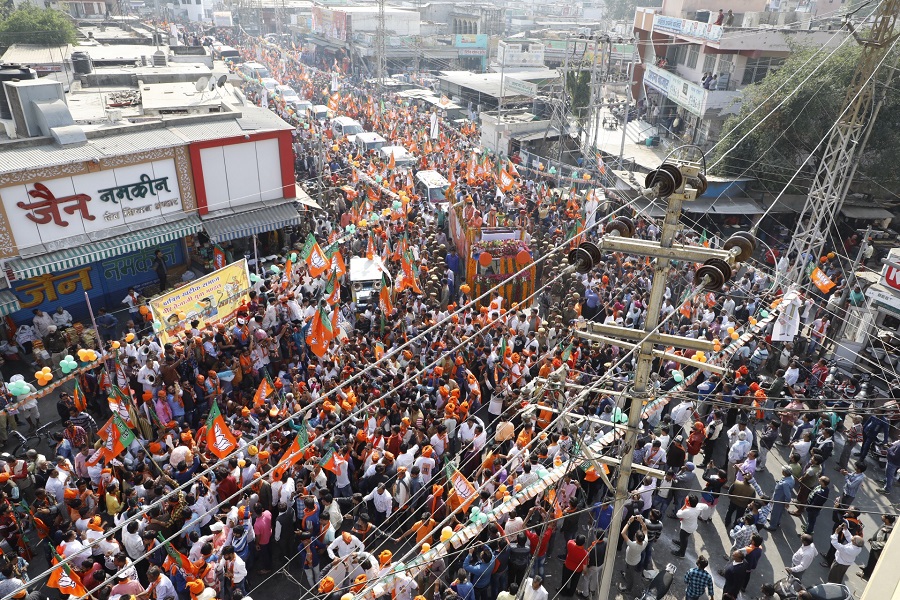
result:
M 835 46 L 845 32 L 808 12 L 771 12 L 769 0 L 664 0 L 638 8 L 634 35 L 641 63 L 634 96 L 653 125 L 704 145 L 740 110 L 741 90 L 777 69 L 796 45 Z M 658 109 L 658 110 L 657 110 Z M 657 117 L 658 113 L 658 117 Z

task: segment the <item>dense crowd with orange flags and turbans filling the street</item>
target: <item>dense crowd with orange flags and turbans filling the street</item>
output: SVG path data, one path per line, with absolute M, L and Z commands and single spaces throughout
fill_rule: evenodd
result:
M 290 52 L 261 42 L 242 49 L 308 97 L 330 85 L 330 73 Z M 625 549 L 614 581 L 636 595 L 661 566 L 654 546 L 663 535 L 686 557 L 691 537 L 722 519 L 727 556 L 683 565 L 685 593 L 736 599 L 786 513 L 804 527 L 788 568 L 802 583 L 815 583 L 804 573 L 820 553 L 828 581 L 844 581 L 867 545 L 862 574 L 871 575 L 895 518 L 864 532 L 857 498 L 872 473 L 867 455 L 891 425 L 878 411 L 846 415 L 806 399 L 800 390 L 824 381 L 821 368 L 790 347 L 782 364 L 765 332 L 749 343 L 732 334 L 777 297 L 770 270 L 742 270 L 713 297 L 691 294 L 695 265 L 671 270 L 661 329 L 735 348 L 724 377 L 654 364 L 665 401 L 645 414 L 632 452 L 660 476 L 632 476 L 622 527 L 610 531 L 605 481 L 614 484 L 615 471 L 584 462 L 580 448 L 611 439 L 623 407 L 609 389 L 623 388 L 634 361 L 574 331 L 586 320 L 643 328 L 653 266 L 607 254 L 586 274 L 565 269 L 571 241 L 602 235 L 608 220 L 590 195 L 551 189 L 547 175 L 524 169 L 498 192 L 499 172 L 515 167 L 500 157 L 472 167 L 474 126 L 442 122 L 438 135 L 423 134 L 424 109 L 370 101 L 365 84 L 347 83 L 340 95 L 346 114 L 419 148 L 417 168 L 447 173 L 448 198 L 471 205 L 473 222 L 527 232 L 533 297 L 473 298 L 447 215 L 415 196 L 407 173 L 329 140 L 324 175 L 345 191 L 296 233 L 281 269 L 258 278 L 236 321 L 188 322 L 169 343 L 140 324 L 117 330 L 103 360 L 79 370 L 77 388 L 59 392 L 51 453 L 0 455 L 0 597 L 24 590 L 37 599 L 27 561 L 39 557 L 67 565 L 54 569 L 53 587 L 98 600 L 240 600 L 274 577 L 303 597 L 342 600 L 593 598 L 603 569 L 616 568 L 604 566 L 612 543 Z M 307 125 L 298 122 L 300 171 L 325 135 Z M 659 236 L 627 203 L 618 214 L 636 217 L 636 236 Z M 309 236 L 324 268 L 300 251 Z M 365 254 L 384 257 L 394 285 L 357 306 L 344 265 Z M 809 347 L 816 328 L 804 331 Z M 34 402 L 22 414 L 36 426 Z M 605 453 L 621 454 L 621 444 L 612 436 Z M 885 493 L 898 444 L 887 451 Z M 553 469 L 565 475 L 541 488 Z M 781 477 L 764 487 L 757 476 L 766 470 Z M 830 544 L 817 548 L 813 533 L 827 517 Z M 467 525 L 474 533 L 461 540 Z M 439 544 L 445 552 L 433 551 Z M 554 560 L 562 575 L 548 580 Z

